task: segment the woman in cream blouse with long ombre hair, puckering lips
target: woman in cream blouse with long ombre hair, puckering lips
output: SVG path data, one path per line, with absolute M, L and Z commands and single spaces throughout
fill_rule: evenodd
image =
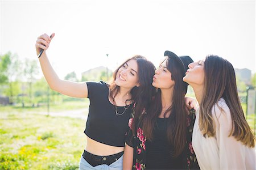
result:
M 232 64 L 207 56 L 190 63 L 183 80 L 200 105 L 192 135 L 200 169 L 256 169 L 255 136 L 243 114 Z

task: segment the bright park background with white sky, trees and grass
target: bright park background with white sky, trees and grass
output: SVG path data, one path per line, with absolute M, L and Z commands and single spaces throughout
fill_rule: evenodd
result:
M 35 52 L 43 33 L 56 33 L 47 50 L 56 73 L 77 82 L 108 82 L 134 54 L 156 67 L 165 50 L 226 58 L 255 133 L 246 103 L 256 81 L 255 1 L 1 0 L 0 9 L 0 169 L 77 169 L 86 145 L 89 100 L 49 89 Z

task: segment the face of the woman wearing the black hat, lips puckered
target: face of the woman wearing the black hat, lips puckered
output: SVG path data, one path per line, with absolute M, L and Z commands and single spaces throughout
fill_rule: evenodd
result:
M 152 86 L 156 88 L 171 88 L 174 84 L 175 82 L 172 80 L 172 74 L 167 69 L 167 59 L 164 59 L 159 65 L 159 68 L 155 70 Z

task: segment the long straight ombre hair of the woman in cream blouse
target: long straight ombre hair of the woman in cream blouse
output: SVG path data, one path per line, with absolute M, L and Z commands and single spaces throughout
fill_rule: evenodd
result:
M 242 110 L 232 64 L 224 58 L 210 55 L 205 58 L 204 72 L 204 92 L 199 117 L 199 127 L 204 137 L 216 135 L 212 109 L 222 98 L 228 105 L 232 118 L 232 130 L 229 137 L 232 135 L 245 146 L 254 147 L 255 137 Z

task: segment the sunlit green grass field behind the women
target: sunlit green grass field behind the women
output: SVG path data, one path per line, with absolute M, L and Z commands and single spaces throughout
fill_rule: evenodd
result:
M 50 111 L 85 107 L 88 101 L 69 101 L 52 105 Z M 85 120 L 31 114 L 46 109 L 0 108 L 0 169 L 78 169 L 86 145 Z M 254 114 L 247 121 L 254 128 Z

